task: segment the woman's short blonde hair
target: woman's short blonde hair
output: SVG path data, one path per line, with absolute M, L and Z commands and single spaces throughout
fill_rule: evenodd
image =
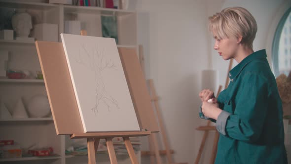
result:
M 209 30 L 218 39 L 241 36 L 241 43 L 253 48 L 257 31 L 254 16 L 243 7 L 228 7 L 209 17 Z

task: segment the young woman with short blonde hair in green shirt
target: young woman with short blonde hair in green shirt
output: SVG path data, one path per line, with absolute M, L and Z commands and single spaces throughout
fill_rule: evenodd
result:
M 287 164 L 282 102 L 265 49 L 254 52 L 257 25 L 242 7 L 229 7 L 209 18 L 214 49 L 238 65 L 218 98 L 202 90 L 200 117 L 217 123 L 216 164 Z M 208 102 L 209 99 L 213 103 Z

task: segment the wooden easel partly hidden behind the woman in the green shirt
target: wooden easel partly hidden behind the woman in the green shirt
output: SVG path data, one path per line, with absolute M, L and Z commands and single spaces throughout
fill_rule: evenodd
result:
M 227 73 L 229 73 L 229 71 L 231 70 L 232 63 L 233 63 L 233 59 L 230 59 Z M 228 76 L 226 76 L 224 89 L 227 88 L 228 83 L 229 83 L 229 78 L 228 78 Z M 219 93 L 221 91 L 221 88 L 222 88 L 222 86 L 219 85 L 216 97 L 218 97 L 218 95 L 219 95 Z M 203 134 L 203 138 L 202 138 L 202 141 L 201 141 L 201 144 L 200 144 L 200 147 L 199 147 L 199 152 L 198 152 L 198 155 L 196 157 L 196 160 L 195 160 L 194 164 L 199 164 L 199 161 L 200 161 L 200 158 L 201 158 L 201 155 L 202 155 L 205 143 L 206 143 L 206 139 L 208 137 L 208 133 L 209 133 L 210 130 L 215 130 L 215 137 L 214 137 L 214 142 L 213 142 L 213 148 L 212 148 L 210 164 L 214 164 L 214 162 L 215 162 L 215 158 L 216 158 L 216 154 L 217 154 L 217 145 L 218 145 L 218 139 L 219 139 L 219 132 L 217 131 L 216 126 L 210 126 L 210 123 L 211 123 L 211 121 L 208 121 L 206 126 L 199 126 L 199 127 L 196 128 L 196 130 L 203 130 L 204 134 Z

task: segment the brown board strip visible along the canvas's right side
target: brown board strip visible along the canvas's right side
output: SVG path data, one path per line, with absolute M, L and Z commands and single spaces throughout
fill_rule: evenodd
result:
M 143 129 L 157 132 L 159 127 L 151 105 L 146 79 L 135 48 L 118 48 L 120 59 L 134 102 L 138 120 Z

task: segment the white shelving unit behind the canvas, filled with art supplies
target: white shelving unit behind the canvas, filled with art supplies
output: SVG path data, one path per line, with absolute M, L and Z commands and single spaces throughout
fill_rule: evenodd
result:
M 136 48 L 137 13 L 136 11 L 109 9 L 93 6 L 73 6 L 45 3 L 48 0 L 0 0 L 1 9 L 24 8 L 32 15 L 33 23 L 58 24 L 58 40 L 64 33 L 66 20 L 82 21 L 88 36 L 102 37 L 102 15 L 115 15 L 118 27 L 117 47 Z M 36 95 L 46 95 L 43 80 L 36 80 L 36 71 L 41 71 L 34 41 L 0 40 L 0 50 L 9 52 L 8 69 L 28 70 L 31 79 L 0 79 L 0 101 L 4 102 L 10 112 L 19 98 L 24 105 Z M 61 97 L 60 97 L 61 98 Z M 28 113 L 29 114 L 29 113 Z M 68 116 L 70 117 L 70 116 Z M 64 118 L 65 119 L 65 118 Z M 73 144 L 68 136 L 56 135 L 52 118 L 0 119 L 0 140 L 13 139 L 22 149 L 36 145 L 52 147 L 54 156 L 23 157 L 0 159 L 0 164 L 87 164 L 87 156 L 66 156 L 65 150 Z M 107 154 L 98 154 L 100 164 L 109 164 Z M 117 156 L 118 163 L 130 163 L 128 156 Z

